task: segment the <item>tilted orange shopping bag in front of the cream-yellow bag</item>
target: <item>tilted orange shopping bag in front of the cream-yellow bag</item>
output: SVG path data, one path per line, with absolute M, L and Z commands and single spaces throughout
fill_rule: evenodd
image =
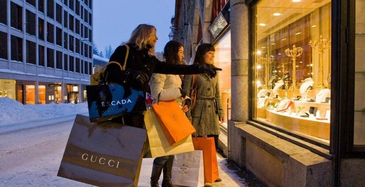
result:
M 175 100 L 159 101 L 152 108 L 161 119 L 161 128 L 171 145 L 196 131 Z

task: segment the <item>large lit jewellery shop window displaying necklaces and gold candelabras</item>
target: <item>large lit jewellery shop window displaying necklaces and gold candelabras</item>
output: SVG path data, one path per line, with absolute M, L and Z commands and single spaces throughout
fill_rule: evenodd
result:
M 329 145 L 331 1 L 262 0 L 253 15 L 253 118 Z

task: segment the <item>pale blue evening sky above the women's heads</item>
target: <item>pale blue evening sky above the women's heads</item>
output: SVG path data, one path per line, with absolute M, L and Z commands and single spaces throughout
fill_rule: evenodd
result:
M 94 0 L 93 40 L 99 51 L 108 45 L 114 50 L 138 24 L 147 23 L 157 28 L 155 51 L 163 51 L 174 13 L 174 0 Z

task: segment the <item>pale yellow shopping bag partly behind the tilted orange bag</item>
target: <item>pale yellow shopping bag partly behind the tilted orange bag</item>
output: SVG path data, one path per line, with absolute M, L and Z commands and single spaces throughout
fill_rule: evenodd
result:
M 153 109 L 147 109 L 145 113 L 145 124 L 152 157 L 194 151 L 191 135 L 178 141 L 176 144 L 171 145 L 169 143 L 161 128 L 161 120 L 157 117 Z

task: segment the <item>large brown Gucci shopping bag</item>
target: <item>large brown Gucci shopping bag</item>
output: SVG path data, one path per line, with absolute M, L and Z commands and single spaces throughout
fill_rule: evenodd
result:
M 57 176 L 96 186 L 137 186 L 146 130 L 77 114 Z

